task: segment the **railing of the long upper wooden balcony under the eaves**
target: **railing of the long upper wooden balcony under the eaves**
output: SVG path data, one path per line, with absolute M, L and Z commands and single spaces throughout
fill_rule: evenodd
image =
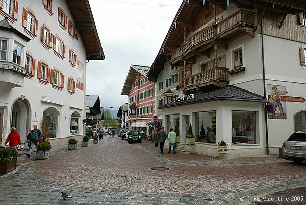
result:
M 242 24 L 255 26 L 254 13 L 241 9 L 231 16 L 226 17 L 216 26 L 208 26 L 205 29 L 193 34 L 187 38 L 179 48 L 171 53 L 171 61 L 179 58 L 182 54 L 193 48 L 195 45 L 215 37 L 220 37 L 222 34 L 231 31 L 233 28 L 239 27 Z M 214 27 L 216 29 L 214 29 Z

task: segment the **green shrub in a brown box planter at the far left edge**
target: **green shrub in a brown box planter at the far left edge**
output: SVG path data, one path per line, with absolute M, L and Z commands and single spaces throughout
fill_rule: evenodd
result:
M 7 173 L 16 169 L 17 150 L 13 147 L 0 149 L 0 173 Z

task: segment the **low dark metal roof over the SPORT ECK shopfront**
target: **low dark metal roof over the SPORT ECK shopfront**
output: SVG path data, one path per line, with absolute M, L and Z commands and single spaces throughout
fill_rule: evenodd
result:
M 248 90 L 230 85 L 219 90 L 214 90 L 208 93 L 201 93 L 195 96 L 195 99 L 185 100 L 181 102 L 172 102 L 159 108 L 176 107 L 182 105 L 190 105 L 196 103 L 203 103 L 216 100 L 230 100 L 230 101 L 248 101 L 248 102 L 267 102 L 264 96 L 249 92 Z

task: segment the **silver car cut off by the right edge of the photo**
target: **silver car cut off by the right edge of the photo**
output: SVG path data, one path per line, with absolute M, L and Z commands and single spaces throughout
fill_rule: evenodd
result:
M 306 160 L 306 131 L 291 134 L 282 147 L 285 156 L 295 163 L 302 163 Z

